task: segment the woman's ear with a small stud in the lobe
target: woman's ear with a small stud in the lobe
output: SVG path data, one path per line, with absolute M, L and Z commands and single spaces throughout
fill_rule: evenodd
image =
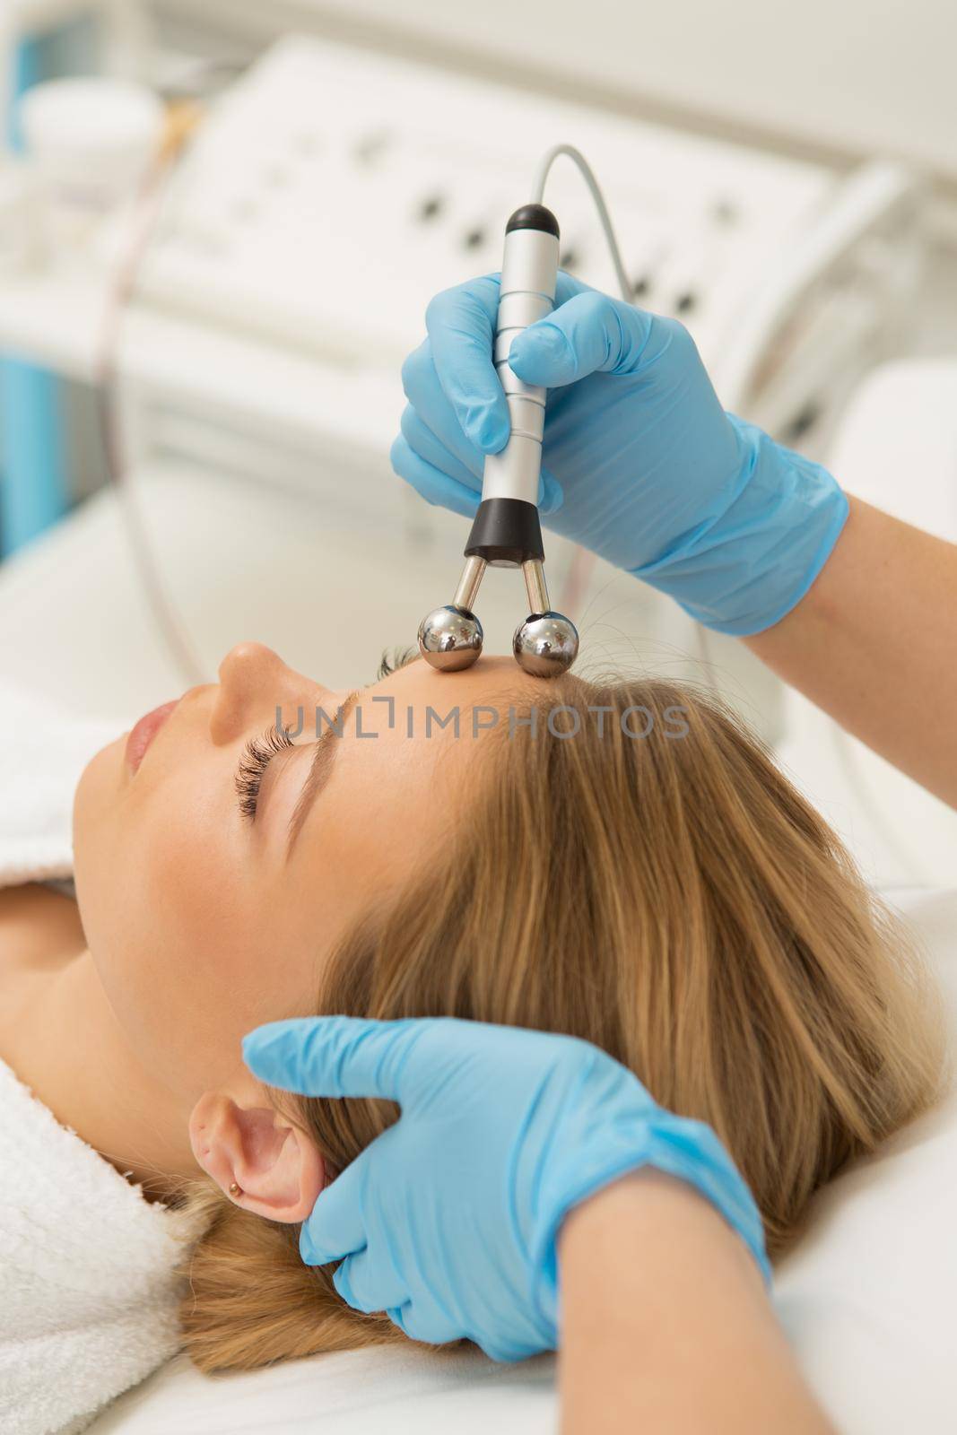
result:
M 304 1221 L 326 1185 L 313 1138 L 270 1106 L 208 1091 L 192 1108 L 189 1142 L 231 1201 L 270 1221 Z

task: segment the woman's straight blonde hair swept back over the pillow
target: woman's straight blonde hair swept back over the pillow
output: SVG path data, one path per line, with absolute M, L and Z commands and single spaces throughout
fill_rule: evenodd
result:
M 567 677 L 548 703 L 577 718 L 539 712 L 537 732 L 491 736 L 461 835 L 347 934 L 316 1010 L 604 1048 L 715 1128 L 776 1256 L 818 1187 L 934 1099 L 943 1046 L 921 966 L 835 834 L 712 696 Z M 298 1106 L 334 1170 L 396 1115 Z M 303 1266 L 297 1228 L 202 1200 L 212 1224 L 181 1312 L 202 1370 L 405 1339 L 350 1310 L 331 1267 Z

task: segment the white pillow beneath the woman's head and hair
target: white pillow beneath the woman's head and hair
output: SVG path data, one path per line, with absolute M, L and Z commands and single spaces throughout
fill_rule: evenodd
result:
M 940 971 L 957 1032 L 957 893 L 891 893 Z M 776 1306 L 842 1435 L 957 1431 L 957 1096 L 818 1197 Z M 554 1359 L 496 1366 L 409 1349 L 205 1379 L 182 1356 L 90 1435 L 554 1435 Z M 769 1432 L 770 1435 L 770 1432 Z

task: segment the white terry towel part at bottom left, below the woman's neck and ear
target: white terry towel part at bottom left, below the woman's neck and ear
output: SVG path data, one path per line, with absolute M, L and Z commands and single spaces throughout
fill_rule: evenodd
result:
M 143 1200 L 0 1062 L 0 1429 L 52 1435 L 179 1347 L 194 1215 Z

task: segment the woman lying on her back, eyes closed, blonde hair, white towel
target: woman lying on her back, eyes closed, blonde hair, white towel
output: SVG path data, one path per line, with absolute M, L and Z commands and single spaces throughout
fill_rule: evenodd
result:
M 264 1088 L 240 1045 L 263 1022 L 595 1043 L 713 1126 L 772 1258 L 937 1091 L 901 933 L 676 683 L 415 660 L 330 692 L 242 644 L 89 762 L 73 852 L 76 901 L 0 894 L 4 1431 L 79 1421 L 181 1345 L 217 1372 L 406 1339 L 297 1244 L 396 1108 Z

